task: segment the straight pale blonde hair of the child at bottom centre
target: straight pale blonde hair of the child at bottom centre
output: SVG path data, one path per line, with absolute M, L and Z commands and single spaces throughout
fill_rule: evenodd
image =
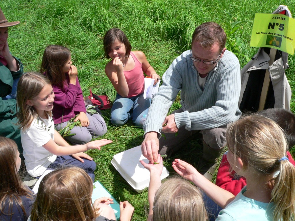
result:
M 206 221 L 201 191 L 181 177 L 165 181 L 154 200 L 153 221 Z

